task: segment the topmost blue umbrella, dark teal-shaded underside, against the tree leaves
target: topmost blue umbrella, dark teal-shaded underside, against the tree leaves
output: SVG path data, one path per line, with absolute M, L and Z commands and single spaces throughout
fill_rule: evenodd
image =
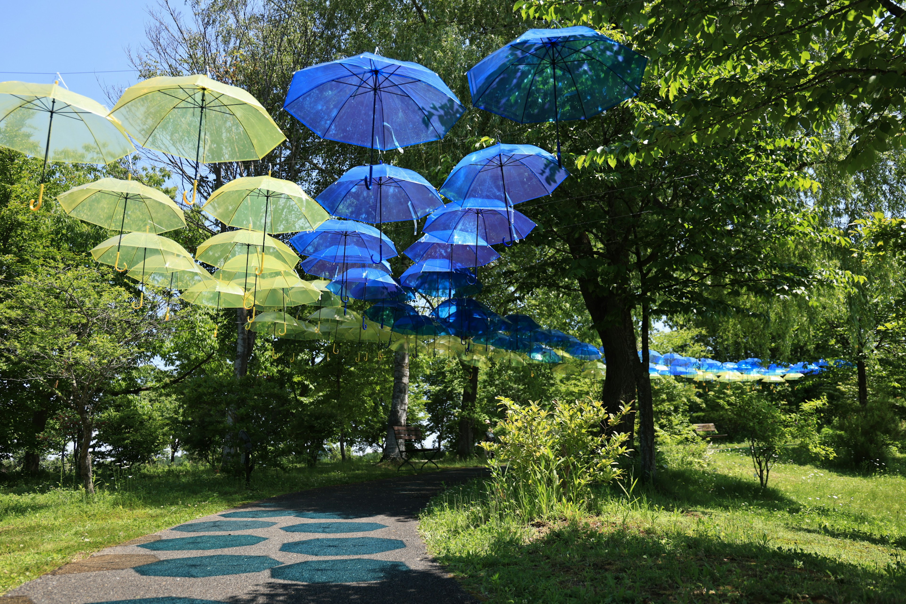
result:
M 468 71 L 472 104 L 520 124 L 587 120 L 641 90 L 648 59 L 591 27 L 530 29 Z

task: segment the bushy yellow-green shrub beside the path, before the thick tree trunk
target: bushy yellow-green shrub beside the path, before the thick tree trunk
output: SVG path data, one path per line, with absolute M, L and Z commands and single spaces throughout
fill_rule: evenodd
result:
M 537 402 L 520 406 L 498 399 L 505 415 L 496 442 L 480 446 L 493 454 L 497 496 L 524 517 L 546 516 L 561 502 L 582 504 L 591 484 L 622 475 L 614 466 L 627 452 L 626 435 L 607 432 L 620 424 L 625 409 L 608 414 L 602 403 L 587 399 L 554 401 L 548 411 Z

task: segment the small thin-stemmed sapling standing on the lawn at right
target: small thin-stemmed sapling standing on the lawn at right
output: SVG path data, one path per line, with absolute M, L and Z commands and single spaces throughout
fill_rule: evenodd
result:
M 797 447 L 819 459 L 834 457 L 818 435 L 818 409 L 827 399 L 806 400 L 799 410 L 790 411 L 786 401 L 775 402 L 763 392 L 739 385 L 720 399 L 737 424 L 740 436 L 748 441 L 749 455 L 758 482 L 766 488 L 771 468 L 781 449 Z

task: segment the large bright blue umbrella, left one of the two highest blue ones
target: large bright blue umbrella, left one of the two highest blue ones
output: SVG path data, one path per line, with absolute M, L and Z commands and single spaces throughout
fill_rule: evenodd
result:
M 322 139 L 370 148 L 371 164 L 374 149 L 442 139 L 466 112 L 437 73 L 372 53 L 295 72 L 284 109 Z

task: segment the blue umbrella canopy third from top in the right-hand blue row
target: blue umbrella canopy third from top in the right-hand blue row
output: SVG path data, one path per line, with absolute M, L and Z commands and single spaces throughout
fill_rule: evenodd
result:
M 467 199 L 461 204 L 447 204 L 428 216 L 424 231 L 461 231 L 492 244 L 525 239 L 535 223 L 525 215 L 496 199 Z

